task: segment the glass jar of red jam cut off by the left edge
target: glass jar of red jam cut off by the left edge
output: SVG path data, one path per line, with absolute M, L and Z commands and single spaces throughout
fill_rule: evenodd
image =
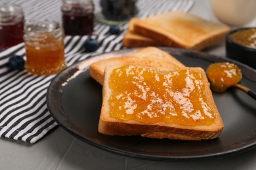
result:
M 23 42 L 24 12 L 18 5 L 0 5 L 0 50 Z

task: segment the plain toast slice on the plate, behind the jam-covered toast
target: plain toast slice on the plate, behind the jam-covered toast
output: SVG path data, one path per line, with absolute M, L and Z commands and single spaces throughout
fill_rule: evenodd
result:
M 90 66 L 90 75 L 101 85 L 104 81 L 104 69 L 107 65 L 144 65 L 148 67 L 166 67 L 179 69 L 185 67 L 176 58 L 156 47 L 146 47 L 120 58 L 97 61 Z

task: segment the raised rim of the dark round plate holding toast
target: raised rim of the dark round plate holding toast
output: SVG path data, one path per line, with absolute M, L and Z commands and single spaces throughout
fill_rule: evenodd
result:
M 256 70 L 254 70 L 253 68 L 251 68 L 247 65 L 244 65 L 243 63 L 240 63 L 239 61 L 235 61 L 233 59 L 223 58 L 221 56 L 215 56 L 214 54 L 208 54 L 205 52 L 199 52 L 199 51 L 195 51 L 195 50 L 184 50 L 181 48 L 170 48 L 170 47 L 158 47 L 158 48 L 160 48 L 161 50 L 167 51 L 167 52 L 169 50 L 174 53 L 176 52 L 177 55 L 179 55 L 179 53 L 181 53 L 182 55 L 185 55 L 185 56 L 188 55 L 190 58 L 200 58 L 200 59 L 211 61 L 211 62 L 230 61 L 232 63 L 236 63 L 237 65 L 240 66 L 242 71 L 244 71 L 244 70 L 249 71 L 249 73 L 243 73 L 243 75 L 246 75 L 247 79 L 251 80 L 251 78 L 248 78 L 248 74 L 251 75 L 251 73 L 255 73 L 255 77 L 253 76 L 253 80 L 251 80 L 251 81 L 256 82 Z M 93 62 L 97 58 L 99 60 L 104 59 L 104 56 L 106 56 L 106 58 L 109 58 L 110 54 L 111 55 L 117 54 L 117 56 L 122 56 L 123 52 L 130 53 L 130 52 L 133 52 L 133 51 L 139 50 L 139 49 L 140 48 L 128 48 L 128 49 L 124 49 L 124 50 L 117 50 L 117 51 L 97 54 L 95 56 L 89 56 L 88 58 L 78 61 L 77 63 L 70 65 L 69 67 L 67 67 L 60 73 L 58 73 L 58 75 L 56 75 L 51 80 L 51 84 L 47 88 L 47 96 L 46 96 L 47 108 L 49 109 L 51 116 L 53 116 L 53 118 L 57 122 L 57 124 L 60 125 L 66 131 L 68 131 L 68 133 L 70 133 L 77 139 L 80 139 L 81 141 L 84 141 L 84 142 L 90 144 L 91 146 L 95 146 L 96 148 L 100 148 L 102 150 L 105 150 L 107 152 L 112 152 L 114 154 L 119 154 L 121 156 L 128 156 L 131 158 L 139 158 L 139 159 L 143 159 L 143 160 L 158 160 L 158 161 L 195 160 L 195 159 L 198 160 L 198 159 L 213 158 L 213 157 L 217 157 L 217 156 L 229 156 L 232 154 L 238 154 L 240 152 L 244 152 L 244 151 L 247 151 L 247 150 L 250 150 L 250 149 L 256 147 L 256 132 L 255 132 L 255 134 L 254 134 L 255 138 L 253 138 L 253 139 L 255 139 L 254 142 L 245 144 L 240 148 L 235 147 L 235 148 L 231 148 L 230 150 L 224 150 L 223 152 L 214 152 L 214 153 L 210 153 L 210 154 L 203 154 L 203 155 L 197 155 L 197 156 L 156 156 L 156 155 L 153 156 L 153 155 L 149 155 L 149 154 L 129 152 L 127 150 L 121 150 L 119 148 L 113 148 L 110 146 L 106 146 L 104 144 L 96 143 L 95 141 L 91 141 L 91 139 L 89 139 L 88 137 L 81 136 L 81 134 L 78 132 L 81 129 L 76 129 L 76 131 L 74 131 L 74 124 L 72 122 L 69 122 L 68 120 L 60 120 L 59 118 L 56 117 L 56 115 L 55 115 L 56 113 L 54 113 L 56 110 L 53 110 L 52 107 L 49 107 L 49 106 L 53 105 L 53 103 L 52 103 L 53 101 L 51 99 L 51 94 L 52 94 L 53 90 L 55 90 L 55 92 L 58 92 L 61 95 L 62 89 L 56 90 L 56 88 L 57 88 L 56 86 L 60 84 L 59 82 L 64 83 L 64 82 L 68 81 L 68 78 L 70 78 L 70 76 L 69 76 L 68 78 L 63 79 L 62 75 L 64 75 L 65 73 L 67 74 L 68 72 L 72 72 L 73 74 L 78 72 L 78 75 L 79 75 L 80 73 L 85 71 L 85 69 L 89 69 L 88 65 L 90 64 L 90 61 Z M 198 54 L 200 54 L 200 55 L 198 55 Z M 175 56 L 175 54 L 173 56 Z M 211 56 L 211 57 L 207 58 L 207 56 L 208 57 Z M 56 82 L 58 82 L 58 83 L 56 83 Z M 59 104 L 61 104 L 61 99 L 59 101 L 54 101 L 55 105 L 57 104 L 56 102 L 59 102 Z M 60 111 L 59 114 L 62 114 L 61 111 L 64 112 L 64 109 L 61 106 L 58 107 L 58 109 Z M 62 114 L 62 116 L 65 117 L 64 114 Z M 64 122 L 68 123 L 68 126 L 64 125 Z M 79 127 L 75 127 L 75 128 L 79 128 Z M 216 148 L 215 148 L 215 150 L 216 150 Z

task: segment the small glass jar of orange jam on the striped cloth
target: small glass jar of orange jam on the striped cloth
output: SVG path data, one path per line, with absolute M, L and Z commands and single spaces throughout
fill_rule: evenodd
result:
M 24 27 L 26 65 L 35 75 L 53 75 L 66 67 L 64 33 L 58 22 L 30 21 Z

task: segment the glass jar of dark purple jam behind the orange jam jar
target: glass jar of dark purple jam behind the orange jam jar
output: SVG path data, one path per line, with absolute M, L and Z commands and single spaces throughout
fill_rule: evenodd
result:
M 66 35 L 93 33 L 94 5 L 92 0 L 63 0 L 62 24 Z

